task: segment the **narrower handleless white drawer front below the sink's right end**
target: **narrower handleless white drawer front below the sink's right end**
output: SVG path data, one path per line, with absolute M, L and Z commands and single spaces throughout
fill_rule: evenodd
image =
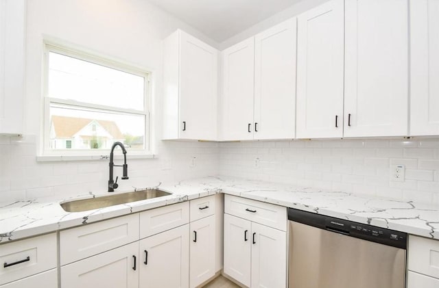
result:
M 147 210 L 140 213 L 140 237 L 167 231 L 189 223 L 189 202 Z

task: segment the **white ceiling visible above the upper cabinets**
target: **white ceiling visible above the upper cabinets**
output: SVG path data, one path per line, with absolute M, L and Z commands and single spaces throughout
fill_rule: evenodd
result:
M 301 0 L 149 1 L 220 43 Z

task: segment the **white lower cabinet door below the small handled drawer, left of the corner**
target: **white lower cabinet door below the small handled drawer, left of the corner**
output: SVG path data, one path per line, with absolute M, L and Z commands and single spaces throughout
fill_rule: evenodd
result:
M 215 275 L 215 216 L 190 224 L 190 287 L 197 287 Z

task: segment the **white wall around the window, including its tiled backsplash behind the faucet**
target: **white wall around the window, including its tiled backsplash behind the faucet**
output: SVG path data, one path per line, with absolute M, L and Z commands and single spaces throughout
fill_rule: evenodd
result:
M 158 159 L 129 159 L 130 179 L 119 181 L 119 190 L 217 174 L 217 144 L 160 141 L 162 40 L 177 28 L 213 43 L 143 0 L 28 0 L 25 137 L 0 138 L 0 202 L 106 190 L 108 160 L 36 162 L 43 116 L 43 38 L 69 42 L 152 71 L 153 117 L 157 119 L 152 144 Z

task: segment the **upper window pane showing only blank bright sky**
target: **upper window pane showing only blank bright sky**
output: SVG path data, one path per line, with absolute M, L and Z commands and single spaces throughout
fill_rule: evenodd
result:
M 144 93 L 144 77 L 49 52 L 49 97 L 143 111 Z

